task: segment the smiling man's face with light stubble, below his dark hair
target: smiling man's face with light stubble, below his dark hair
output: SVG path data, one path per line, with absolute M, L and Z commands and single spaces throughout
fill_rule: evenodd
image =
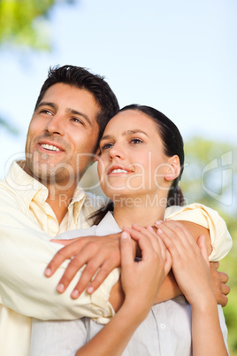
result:
M 96 150 L 98 112 L 100 107 L 88 90 L 64 83 L 52 85 L 28 128 L 27 174 L 45 185 L 74 186 Z

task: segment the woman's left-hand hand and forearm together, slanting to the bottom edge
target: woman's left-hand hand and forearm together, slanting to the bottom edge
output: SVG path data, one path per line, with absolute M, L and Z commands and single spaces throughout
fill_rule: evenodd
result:
M 131 235 L 127 232 L 129 230 Z M 141 260 L 134 261 L 133 236 L 141 248 Z M 120 239 L 121 279 L 125 300 L 119 312 L 76 353 L 77 356 L 119 356 L 153 305 L 157 290 L 171 268 L 172 259 L 150 228 L 127 229 Z M 96 352 L 96 353 L 95 353 Z

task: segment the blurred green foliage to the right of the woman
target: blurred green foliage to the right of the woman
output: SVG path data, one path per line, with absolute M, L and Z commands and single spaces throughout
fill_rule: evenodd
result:
M 229 275 L 231 293 L 224 313 L 229 351 L 237 356 L 237 147 L 194 137 L 185 151 L 181 188 L 187 203 L 197 201 L 217 210 L 233 237 L 233 249 L 220 261 L 219 270 Z

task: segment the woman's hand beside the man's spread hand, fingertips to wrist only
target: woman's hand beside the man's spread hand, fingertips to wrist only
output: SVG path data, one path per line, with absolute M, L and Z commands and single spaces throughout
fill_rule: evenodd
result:
M 132 238 L 141 249 L 141 260 L 134 261 Z M 153 228 L 124 228 L 120 240 L 121 281 L 125 304 L 131 303 L 136 313 L 149 313 L 164 277 L 171 269 L 172 259 Z M 136 296 L 136 297 L 135 297 Z M 130 307 L 131 307 L 130 306 Z

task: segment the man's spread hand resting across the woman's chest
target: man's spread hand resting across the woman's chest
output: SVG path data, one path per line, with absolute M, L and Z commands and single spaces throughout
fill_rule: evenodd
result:
M 86 265 L 71 297 L 78 298 L 87 287 L 87 292 L 93 293 L 111 273 L 112 269 L 120 266 L 120 235 L 119 233 L 108 236 L 78 237 L 72 240 L 51 240 L 57 244 L 65 244 L 65 247 L 51 259 L 45 269 L 45 275 L 50 277 L 65 259 L 72 259 L 65 269 L 65 274 L 57 284 L 57 291 L 63 293 L 73 280 L 74 275 L 81 267 Z M 97 275 L 91 282 L 96 272 Z

